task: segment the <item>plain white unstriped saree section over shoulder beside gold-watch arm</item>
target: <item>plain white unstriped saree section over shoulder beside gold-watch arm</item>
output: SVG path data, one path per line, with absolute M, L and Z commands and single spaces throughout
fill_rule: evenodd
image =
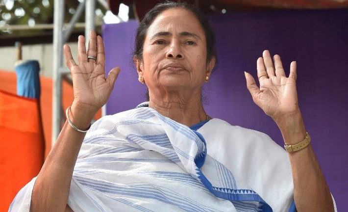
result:
M 210 120 L 198 132 L 206 141 L 207 154 L 224 164 L 239 185 L 256 191 L 275 211 L 290 207 L 289 157 L 270 136 L 221 119 Z

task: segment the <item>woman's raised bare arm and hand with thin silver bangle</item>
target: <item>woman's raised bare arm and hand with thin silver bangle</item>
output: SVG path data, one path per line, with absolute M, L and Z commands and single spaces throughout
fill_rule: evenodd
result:
M 100 36 L 90 34 L 88 52 L 85 39 L 78 38 L 78 61 L 76 64 L 70 47 L 64 53 L 74 84 L 74 102 L 69 114 L 74 125 L 87 129 L 93 116 L 110 96 L 120 69 L 114 68 L 105 79 L 104 46 Z M 97 60 L 87 55 L 97 55 Z M 50 151 L 37 176 L 30 204 L 30 212 L 64 212 L 67 208 L 74 166 L 85 133 L 75 131 L 66 121 L 55 145 Z

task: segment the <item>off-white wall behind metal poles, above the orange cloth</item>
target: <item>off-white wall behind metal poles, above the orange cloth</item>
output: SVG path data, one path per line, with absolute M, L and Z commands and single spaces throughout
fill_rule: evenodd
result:
M 76 59 L 77 42 L 68 43 Z M 64 56 L 64 55 L 63 55 Z M 63 57 L 64 58 L 64 57 Z M 17 59 L 15 47 L 0 47 L 0 70 L 14 71 L 14 63 Z M 40 63 L 40 75 L 52 77 L 53 67 L 53 45 L 52 44 L 36 44 L 24 45 L 22 47 L 22 59 L 35 59 Z M 65 65 L 65 59 L 63 59 Z M 77 61 L 76 61 L 77 63 Z

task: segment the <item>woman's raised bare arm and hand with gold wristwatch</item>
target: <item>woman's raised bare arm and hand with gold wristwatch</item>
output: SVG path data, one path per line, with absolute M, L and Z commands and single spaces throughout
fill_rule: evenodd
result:
M 284 142 L 296 144 L 304 139 L 306 132 L 298 107 L 296 62 L 291 63 L 287 78 L 279 55 L 273 59 L 274 66 L 270 53 L 264 51 L 263 57 L 257 60 L 260 87 L 249 73 L 245 74 L 248 90 L 255 104 L 273 118 Z M 331 194 L 311 146 L 289 153 L 289 158 L 298 212 L 333 212 Z

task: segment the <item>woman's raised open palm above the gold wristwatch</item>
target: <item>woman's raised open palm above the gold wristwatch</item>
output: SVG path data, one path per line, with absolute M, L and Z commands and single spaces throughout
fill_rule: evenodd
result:
M 290 64 L 290 74 L 286 77 L 279 55 L 274 55 L 274 66 L 269 51 L 257 59 L 257 77 L 245 73 L 247 87 L 256 105 L 271 116 L 275 122 L 294 114 L 300 114 L 296 90 L 296 62 Z

